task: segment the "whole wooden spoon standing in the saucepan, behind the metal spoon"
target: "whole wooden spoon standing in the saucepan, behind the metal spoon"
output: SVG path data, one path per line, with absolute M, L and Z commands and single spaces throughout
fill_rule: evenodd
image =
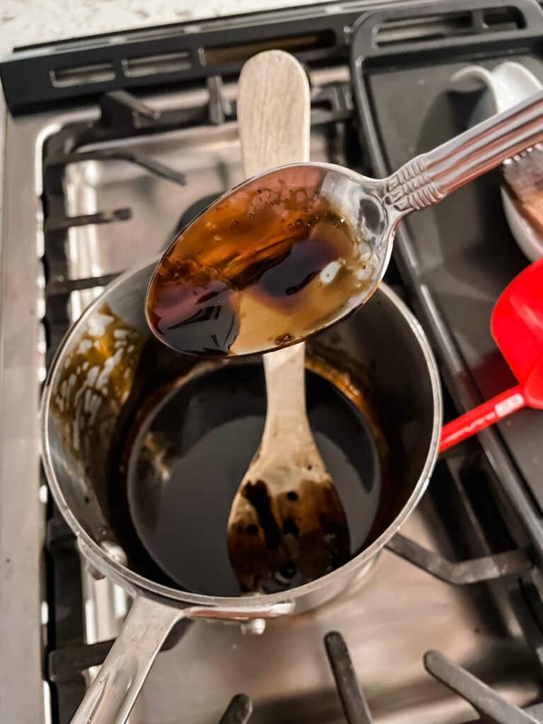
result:
M 254 56 L 238 93 L 246 176 L 309 160 L 309 85 L 295 58 Z M 300 586 L 350 557 L 345 511 L 309 426 L 305 355 L 303 342 L 264 355 L 266 425 L 228 521 L 230 561 L 248 591 Z

